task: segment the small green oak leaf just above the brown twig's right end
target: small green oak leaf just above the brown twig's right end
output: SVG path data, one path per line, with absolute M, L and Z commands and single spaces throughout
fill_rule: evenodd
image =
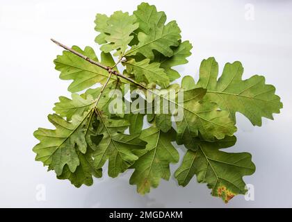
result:
M 134 74 L 137 82 L 144 83 L 156 83 L 161 87 L 168 87 L 170 80 L 165 74 L 165 71 L 159 68 L 159 62 L 150 63 L 149 59 L 136 62 L 131 59 L 127 62 L 123 62 L 123 65 L 127 66 L 127 73 Z

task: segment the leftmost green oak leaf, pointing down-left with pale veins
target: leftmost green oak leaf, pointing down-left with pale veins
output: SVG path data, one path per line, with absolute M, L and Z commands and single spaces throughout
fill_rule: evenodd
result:
M 88 142 L 87 134 L 90 134 L 90 122 L 93 112 L 86 112 L 83 116 L 74 115 L 72 121 L 65 121 L 57 114 L 50 114 L 48 119 L 56 127 L 56 130 L 38 128 L 33 135 L 40 140 L 33 151 L 37 154 L 35 160 L 54 169 L 57 176 L 63 172 L 67 164 L 71 172 L 79 166 L 78 153 L 86 153 Z

